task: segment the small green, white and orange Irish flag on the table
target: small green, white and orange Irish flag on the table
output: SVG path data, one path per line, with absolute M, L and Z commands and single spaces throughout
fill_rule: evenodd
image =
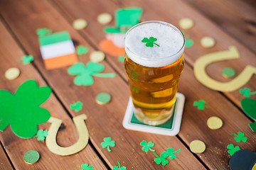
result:
M 39 38 L 46 69 L 56 69 L 78 62 L 75 47 L 67 31 Z

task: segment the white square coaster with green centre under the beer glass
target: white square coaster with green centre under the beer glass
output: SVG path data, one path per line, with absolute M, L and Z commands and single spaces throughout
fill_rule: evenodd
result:
M 181 118 L 183 113 L 183 107 L 185 103 L 185 96 L 181 93 L 176 94 L 176 103 L 174 104 L 173 116 L 163 125 L 151 126 L 145 125 L 139 122 L 134 116 L 134 105 L 132 98 L 129 98 L 127 105 L 127 111 L 124 115 L 123 126 L 129 130 L 137 130 L 141 132 L 150 132 L 160 135 L 177 135 L 181 128 Z

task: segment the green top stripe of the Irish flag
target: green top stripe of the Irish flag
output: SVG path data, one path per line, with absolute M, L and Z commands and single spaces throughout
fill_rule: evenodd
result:
M 41 38 L 39 38 L 39 43 L 40 43 L 40 46 L 43 46 L 43 45 L 54 44 L 57 42 L 63 42 L 63 41 L 70 40 L 70 39 L 71 38 L 70 38 L 68 31 L 63 31 L 60 33 L 54 33 L 51 35 L 46 35 L 44 37 L 41 37 Z

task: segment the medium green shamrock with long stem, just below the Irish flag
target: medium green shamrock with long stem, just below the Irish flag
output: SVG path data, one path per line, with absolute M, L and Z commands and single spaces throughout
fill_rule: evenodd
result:
M 90 86 L 93 84 L 94 80 L 92 76 L 95 77 L 114 77 L 114 73 L 99 73 L 105 69 L 104 65 L 97 62 L 88 62 L 85 66 L 82 62 L 73 64 L 73 66 L 68 68 L 68 74 L 77 75 L 74 79 L 74 84 L 78 86 Z

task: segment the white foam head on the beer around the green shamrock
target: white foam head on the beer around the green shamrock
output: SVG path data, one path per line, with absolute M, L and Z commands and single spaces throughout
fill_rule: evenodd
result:
M 153 47 L 146 47 L 144 38 L 157 40 Z M 183 55 L 185 40 L 178 28 L 161 21 L 146 21 L 129 29 L 124 38 L 128 57 L 146 67 L 164 67 L 176 62 Z

